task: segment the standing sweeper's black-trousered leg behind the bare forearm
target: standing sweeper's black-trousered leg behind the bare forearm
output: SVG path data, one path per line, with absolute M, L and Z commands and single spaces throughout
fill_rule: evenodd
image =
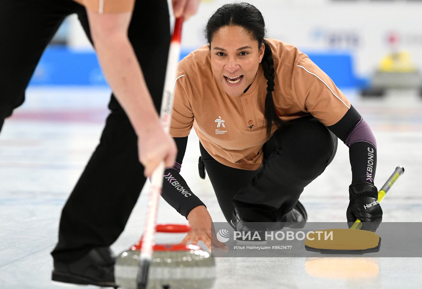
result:
M 89 35 L 86 14 L 79 19 Z M 167 1 L 136 1 L 128 35 L 158 110 L 170 43 Z M 74 270 L 61 264 L 81 261 L 93 250 L 92 262 L 102 254 L 104 264 L 111 265 L 108 246 L 123 231 L 145 183 L 132 125 L 114 95 L 108 107 L 100 144 L 62 210 L 59 242 L 51 253 L 56 270 Z M 95 278 L 105 279 L 101 274 Z

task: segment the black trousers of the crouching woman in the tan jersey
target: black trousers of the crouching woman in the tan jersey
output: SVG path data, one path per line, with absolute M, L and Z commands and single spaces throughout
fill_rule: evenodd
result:
M 206 171 L 229 223 L 234 208 L 250 221 L 282 221 L 298 202 L 303 188 L 333 160 L 337 137 L 323 124 L 310 117 L 290 123 L 265 143 L 259 170 L 222 165 L 200 144 Z

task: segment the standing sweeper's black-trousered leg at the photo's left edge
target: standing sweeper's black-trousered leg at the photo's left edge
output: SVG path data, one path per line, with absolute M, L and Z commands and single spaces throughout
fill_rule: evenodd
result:
M 0 1 L 0 131 L 4 119 L 24 102 L 44 49 L 77 6 L 71 0 Z

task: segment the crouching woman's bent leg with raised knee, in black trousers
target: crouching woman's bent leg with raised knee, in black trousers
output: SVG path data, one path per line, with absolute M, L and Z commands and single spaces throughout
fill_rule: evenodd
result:
M 316 119 L 303 118 L 277 130 L 264 146 L 260 173 L 233 198 L 238 216 L 276 222 L 289 213 L 303 188 L 333 159 L 337 142 Z

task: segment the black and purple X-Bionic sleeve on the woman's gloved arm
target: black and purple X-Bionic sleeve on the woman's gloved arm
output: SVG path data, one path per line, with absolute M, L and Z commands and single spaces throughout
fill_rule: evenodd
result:
M 376 143 L 371 129 L 362 116 L 351 106 L 343 118 L 328 129 L 349 146 L 352 184 L 359 182 L 373 184 L 376 171 Z

